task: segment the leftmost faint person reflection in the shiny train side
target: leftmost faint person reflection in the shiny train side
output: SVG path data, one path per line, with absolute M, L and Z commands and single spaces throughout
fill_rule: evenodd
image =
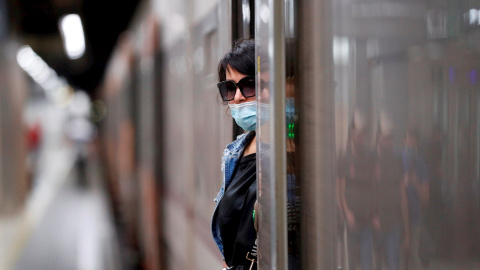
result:
M 347 149 L 338 165 L 338 203 L 347 231 L 347 269 L 372 269 L 374 155 L 368 147 L 364 114 L 357 112 L 349 127 Z

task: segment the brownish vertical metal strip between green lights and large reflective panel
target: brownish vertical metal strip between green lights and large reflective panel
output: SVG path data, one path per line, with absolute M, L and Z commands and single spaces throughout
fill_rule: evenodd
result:
M 302 269 L 335 269 L 335 128 L 330 1 L 298 3 Z

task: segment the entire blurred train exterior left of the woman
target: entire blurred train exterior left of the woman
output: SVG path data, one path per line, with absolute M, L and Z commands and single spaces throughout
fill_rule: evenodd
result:
M 209 224 L 220 156 L 236 135 L 215 91 L 231 11 L 228 2 L 146 2 L 102 84 L 112 202 L 138 267 L 222 267 Z

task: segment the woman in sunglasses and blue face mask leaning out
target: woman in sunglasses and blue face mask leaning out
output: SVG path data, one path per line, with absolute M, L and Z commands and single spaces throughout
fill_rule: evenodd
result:
M 256 181 L 255 43 L 237 42 L 218 65 L 218 89 L 235 122 L 246 133 L 228 144 L 222 158 L 223 185 L 215 199 L 212 235 L 228 269 L 257 269 L 254 204 Z

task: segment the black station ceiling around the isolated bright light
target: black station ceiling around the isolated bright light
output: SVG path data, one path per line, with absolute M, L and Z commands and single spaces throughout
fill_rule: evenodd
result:
M 9 29 L 28 44 L 75 88 L 90 94 L 101 82 L 119 34 L 128 26 L 142 0 L 6 0 Z M 58 22 L 66 14 L 79 14 L 85 32 L 86 53 L 66 56 Z

